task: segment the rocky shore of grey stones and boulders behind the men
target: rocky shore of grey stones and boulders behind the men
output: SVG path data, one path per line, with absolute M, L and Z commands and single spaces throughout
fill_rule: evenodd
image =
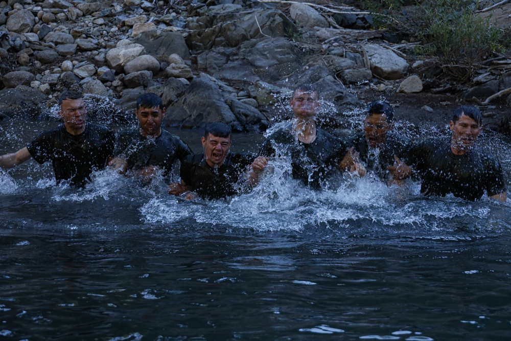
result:
M 446 82 L 414 55 L 417 42 L 375 29 L 352 3 L 3 1 L 0 119 L 48 118 L 63 89 L 79 88 L 103 110 L 89 110 L 92 119 L 130 121 L 136 98 L 154 92 L 171 114 L 166 126 L 220 120 L 264 130 L 289 118 L 295 85 L 313 83 L 330 104 L 320 120 L 331 128 L 344 127 L 343 112 L 386 99 L 414 124 L 445 124 L 455 106 L 479 104 L 487 126 L 510 131 L 508 95 L 487 101 L 511 87 L 506 56 L 469 83 Z

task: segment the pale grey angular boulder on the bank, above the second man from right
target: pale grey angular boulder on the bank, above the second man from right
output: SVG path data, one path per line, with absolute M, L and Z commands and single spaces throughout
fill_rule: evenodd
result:
M 371 71 L 380 78 L 400 79 L 410 67 L 405 59 L 378 44 L 367 44 L 364 49 L 369 59 Z

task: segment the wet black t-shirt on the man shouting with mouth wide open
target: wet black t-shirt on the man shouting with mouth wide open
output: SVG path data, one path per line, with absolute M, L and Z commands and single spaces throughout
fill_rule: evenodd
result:
M 242 177 L 254 158 L 248 153 L 229 153 L 222 166 L 212 168 L 206 164 L 204 154 L 192 154 L 181 163 L 181 179 L 200 197 L 225 198 L 243 189 Z

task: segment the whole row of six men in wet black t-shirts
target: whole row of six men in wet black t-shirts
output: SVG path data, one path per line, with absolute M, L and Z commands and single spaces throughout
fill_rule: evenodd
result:
M 452 134 L 416 144 L 394 133 L 394 111 L 384 101 L 371 102 L 364 130 L 347 139 L 316 124 L 319 93 L 310 85 L 298 86 L 290 100 L 293 120 L 267 135 L 259 154 L 229 152 L 231 129 L 221 122 L 205 127 L 203 152 L 192 149 L 176 135 L 161 128 L 166 108 L 161 98 L 148 93 L 136 103 L 138 129 L 120 132 L 86 123 L 83 95 L 65 91 L 59 98 L 64 123 L 43 131 L 17 152 L 0 156 L 0 167 L 12 168 L 31 157 L 39 164 L 52 161 L 57 183 L 78 187 L 96 170 L 110 167 L 143 182 L 161 174 L 171 178 L 172 165 L 181 163 L 180 183 L 169 184 L 169 193 L 186 199 L 225 198 L 257 186 L 272 160 L 286 157 L 291 177 L 313 190 L 323 188 L 329 176 L 374 172 L 388 186 L 402 185 L 409 177 L 421 180 L 421 193 L 477 200 L 487 196 L 506 201 L 502 167 L 497 158 L 475 145 L 481 131 L 481 112 L 463 105 L 449 123 Z M 170 180 L 169 180 L 170 182 Z

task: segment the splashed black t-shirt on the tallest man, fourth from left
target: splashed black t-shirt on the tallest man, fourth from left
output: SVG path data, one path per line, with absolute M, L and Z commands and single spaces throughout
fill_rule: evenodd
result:
M 346 147 L 343 140 L 320 128 L 316 128 L 316 139 L 312 143 L 300 142 L 289 123 L 266 138 L 259 154 L 267 157 L 289 155 L 292 178 L 320 189 L 328 175 L 335 172 L 335 164 L 346 153 Z

